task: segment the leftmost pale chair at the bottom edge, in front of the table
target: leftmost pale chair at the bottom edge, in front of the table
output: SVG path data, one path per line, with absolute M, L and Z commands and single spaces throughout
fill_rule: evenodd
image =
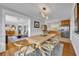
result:
M 35 51 L 33 44 L 29 46 L 24 46 L 21 48 L 19 51 L 15 53 L 17 56 L 28 56 L 31 54 L 33 51 Z

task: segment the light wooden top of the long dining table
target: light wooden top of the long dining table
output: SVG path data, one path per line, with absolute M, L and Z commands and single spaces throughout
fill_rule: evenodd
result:
M 35 35 L 35 36 L 28 37 L 27 39 L 28 39 L 28 42 L 31 44 L 39 45 L 55 36 L 57 36 L 57 34 L 47 34 L 45 36 L 44 35 Z

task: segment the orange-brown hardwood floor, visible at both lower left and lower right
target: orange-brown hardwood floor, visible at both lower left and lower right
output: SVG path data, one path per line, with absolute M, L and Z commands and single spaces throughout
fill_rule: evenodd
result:
M 64 40 L 63 38 L 61 38 L 60 43 L 64 44 L 62 56 L 76 56 L 72 44 L 69 40 Z M 17 48 L 11 42 L 9 42 L 8 45 L 8 50 L 3 53 L 0 53 L 0 56 L 11 56 L 12 53 L 17 50 Z

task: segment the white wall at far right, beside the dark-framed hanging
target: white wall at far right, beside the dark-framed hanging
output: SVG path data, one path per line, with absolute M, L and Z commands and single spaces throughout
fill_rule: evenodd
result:
M 72 45 L 75 49 L 76 55 L 79 56 L 79 34 L 74 32 L 75 31 L 75 27 L 74 27 L 75 26 L 75 23 L 74 23 L 74 20 L 75 20 L 74 8 L 75 8 L 75 4 L 73 5 L 72 13 L 71 13 L 70 39 L 71 39 Z

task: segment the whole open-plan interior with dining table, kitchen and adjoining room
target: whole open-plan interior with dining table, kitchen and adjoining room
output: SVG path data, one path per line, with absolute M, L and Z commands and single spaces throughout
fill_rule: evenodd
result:
M 0 56 L 79 56 L 79 3 L 0 3 Z

